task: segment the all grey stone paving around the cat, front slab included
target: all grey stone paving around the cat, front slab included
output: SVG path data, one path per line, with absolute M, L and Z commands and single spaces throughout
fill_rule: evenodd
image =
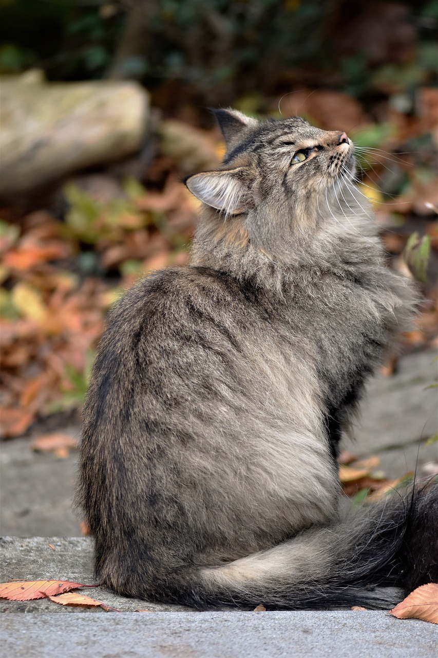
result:
M 438 444 L 435 353 L 411 354 L 391 378 L 376 378 L 362 404 L 354 443 L 358 457 L 379 455 L 387 476 L 430 473 Z M 78 426 L 63 428 L 79 436 Z M 30 438 L 1 445 L 0 582 L 60 579 L 94 584 L 92 541 L 80 537 L 71 511 L 77 453 L 35 453 Z M 380 468 L 380 467 L 379 467 Z M 195 612 L 84 590 L 116 611 L 66 607 L 48 599 L 0 603 L 5 658 L 86 653 L 97 658 L 240 658 L 336 656 L 435 658 L 438 627 L 376 611 Z M 145 611 L 147 610 L 147 611 Z M 34 613 L 34 614 L 31 614 Z

